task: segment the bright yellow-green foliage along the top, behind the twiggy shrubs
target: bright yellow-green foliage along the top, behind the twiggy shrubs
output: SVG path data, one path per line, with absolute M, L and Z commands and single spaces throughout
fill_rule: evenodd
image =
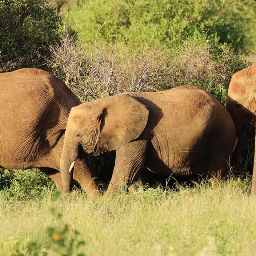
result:
M 210 39 L 232 44 L 235 52 L 252 49 L 256 28 L 253 0 L 88 0 L 78 1 L 68 21 L 89 43 L 116 40 L 144 48 L 171 45 L 206 31 Z M 153 41 L 152 41 L 153 39 Z M 152 42 L 151 42 L 152 41 Z

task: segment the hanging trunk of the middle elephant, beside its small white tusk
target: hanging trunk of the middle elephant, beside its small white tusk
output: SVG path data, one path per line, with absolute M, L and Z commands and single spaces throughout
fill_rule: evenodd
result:
M 74 140 L 65 136 L 64 146 L 60 158 L 60 171 L 62 178 L 62 188 L 64 193 L 70 192 L 72 188 L 72 178 L 74 161 L 78 157 L 78 145 Z

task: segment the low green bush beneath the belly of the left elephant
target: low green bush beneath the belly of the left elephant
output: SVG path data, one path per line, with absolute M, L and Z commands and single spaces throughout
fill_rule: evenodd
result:
M 6 198 L 28 200 L 54 190 L 54 182 L 38 169 L 5 170 L 0 169 L 0 192 Z

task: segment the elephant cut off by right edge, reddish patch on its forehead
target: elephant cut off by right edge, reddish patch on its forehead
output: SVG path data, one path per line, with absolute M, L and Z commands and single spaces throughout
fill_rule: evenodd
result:
M 246 130 L 255 133 L 256 115 L 256 63 L 233 74 L 227 92 L 227 110 L 235 122 L 237 139 Z M 250 124 L 250 125 L 249 125 Z M 254 126 L 254 129 L 252 127 Z M 256 151 L 255 151 L 256 153 Z M 252 176 L 252 192 L 256 193 L 256 157 Z

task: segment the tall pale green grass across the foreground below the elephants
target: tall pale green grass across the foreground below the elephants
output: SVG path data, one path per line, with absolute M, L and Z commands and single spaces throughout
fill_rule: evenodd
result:
M 0 255 L 252 255 L 256 198 L 249 183 L 139 189 L 97 200 L 54 199 L 52 190 L 22 202 L 0 194 Z

